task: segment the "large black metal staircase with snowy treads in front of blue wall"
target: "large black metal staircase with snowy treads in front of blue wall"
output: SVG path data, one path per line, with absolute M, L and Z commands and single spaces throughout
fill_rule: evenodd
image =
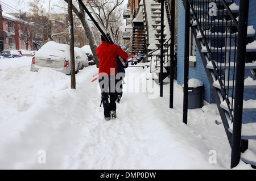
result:
M 244 152 L 256 139 L 256 98 L 253 94 L 243 96 L 243 107 L 236 107 L 240 99 L 236 92 L 237 57 L 238 57 L 238 6 L 232 0 L 183 0 L 184 7 L 190 7 L 191 27 L 196 39 L 205 71 L 212 92 L 220 111 L 222 123 L 232 151 L 234 149 L 237 131 L 233 131 L 237 110 L 242 109 L 243 124 L 241 138 L 238 140 L 240 150 Z M 243 1 L 243 0 L 241 0 Z M 246 25 L 247 26 L 247 25 Z M 255 70 L 256 62 L 250 57 L 256 52 L 256 41 L 251 41 L 255 35 L 252 26 L 247 28 L 245 73 L 241 74 L 244 81 L 244 92 L 256 92 Z M 246 32 L 245 32 L 246 33 Z M 239 76 L 238 76 L 239 77 Z M 239 87 L 238 87 L 239 89 Z M 247 122 L 245 123 L 245 120 Z M 242 120 L 241 120 L 242 121 Z M 239 134 L 238 134 L 238 137 Z M 254 150 L 255 151 L 255 150 Z M 240 154 L 240 153 L 239 153 Z M 242 161 L 256 165 L 255 158 L 243 157 Z M 246 154 L 245 154 L 246 155 Z M 233 158 L 232 158 L 233 159 Z

